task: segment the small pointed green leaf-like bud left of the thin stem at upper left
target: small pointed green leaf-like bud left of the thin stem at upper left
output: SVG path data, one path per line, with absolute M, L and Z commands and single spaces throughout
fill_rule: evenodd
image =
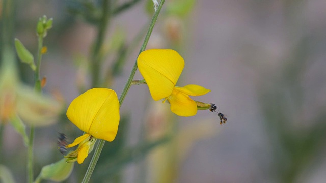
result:
M 30 65 L 30 67 L 35 71 L 36 66 L 34 63 L 34 57 L 32 53 L 25 48 L 25 46 L 19 41 L 19 39 L 15 38 L 15 47 L 21 62 Z

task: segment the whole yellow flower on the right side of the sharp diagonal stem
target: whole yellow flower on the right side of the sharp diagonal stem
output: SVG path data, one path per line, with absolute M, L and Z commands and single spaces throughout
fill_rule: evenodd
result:
M 171 49 L 150 49 L 143 51 L 137 59 L 154 100 L 164 99 L 171 104 L 171 111 L 179 116 L 193 116 L 197 105 L 191 96 L 205 95 L 210 92 L 202 86 L 189 84 L 175 86 L 184 68 L 184 60 L 178 52 Z

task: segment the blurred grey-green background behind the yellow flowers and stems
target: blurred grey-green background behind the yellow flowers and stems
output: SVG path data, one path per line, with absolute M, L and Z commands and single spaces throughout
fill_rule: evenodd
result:
M 32 53 L 38 18 L 53 18 L 44 39 L 43 90 L 61 96 L 67 107 L 94 86 L 91 48 L 103 2 L 12 2 L 13 37 Z M 116 9 L 103 38 L 98 86 L 120 96 L 154 9 L 147 0 L 111 5 Z M 117 8 L 123 5 L 129 6 Z M 208 110 L 176 116 L 169 104 L 152 100 L 146 85 L 133 85 L 121 107 L 117 138 L 105 143 L 91 182 L 325 182 L 325 7 L 324 0 L 166 0 L 147 49 L 177 50 L 185 60 L 177 85 L 210 89 L 193 99 L 215 103 L 227 123 L 220 125 L 217 113 Z M 19 75 L 33 85 L 26 64 L 19 63 Z M 137 71 L 134 79 L 143 78 Z M 83 133 L 65 112 L 55 125 L 36 128 L 36 175 L 62 159 L 58 132 L 69 142 Z M 10 125 L 1 133 L 0 163 L 24 182 L 23 141 Z M 65 182 L 80 182 L 92 155 L 75 164 Z

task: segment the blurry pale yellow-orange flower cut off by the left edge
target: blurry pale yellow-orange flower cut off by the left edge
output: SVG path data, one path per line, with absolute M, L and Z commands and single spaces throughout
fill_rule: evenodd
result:
M 14 54 L 5 49 L 0 70 L 0 122 L 18 115 L 26 124 L 45 126 L 56 122 L 62 104 L 35 92 L 18 79 Z

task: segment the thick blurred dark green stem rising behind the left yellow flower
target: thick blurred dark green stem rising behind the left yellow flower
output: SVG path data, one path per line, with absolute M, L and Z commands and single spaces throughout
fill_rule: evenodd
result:
M 104 36 L 108 25 L 108 20 L 110 20 L 111 0 L 104 0 L 102 5 L 102 17 L 98 24 L 98 33 L 94 44 L 94 49 L 92 51 L 92 88 L 100 86 L 100 65 L 101 56 L 100 51 L 104 42 Z

